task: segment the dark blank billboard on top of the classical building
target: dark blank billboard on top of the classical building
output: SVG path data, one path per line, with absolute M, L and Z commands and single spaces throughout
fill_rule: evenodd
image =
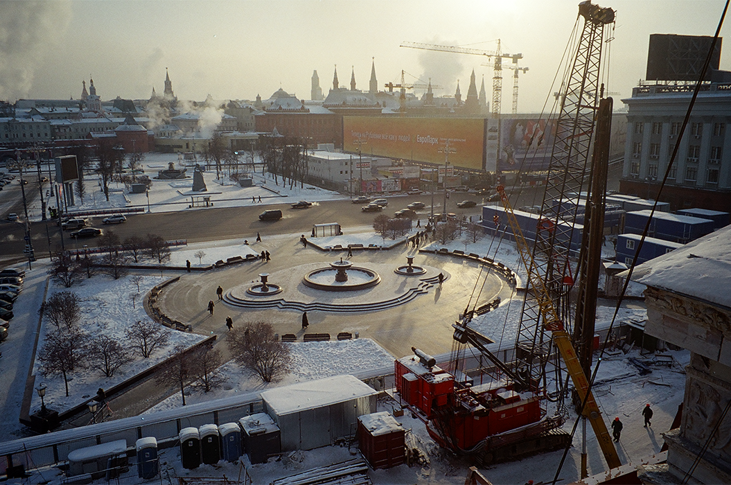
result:
M 711 71 L 721 63 L 721 38 L 711 56 L 704 81 L 711 80 Z M 651 34 L 647 54 L 648 81 L 697 81 L 711 50 L 713 37 L 702 35 Z

